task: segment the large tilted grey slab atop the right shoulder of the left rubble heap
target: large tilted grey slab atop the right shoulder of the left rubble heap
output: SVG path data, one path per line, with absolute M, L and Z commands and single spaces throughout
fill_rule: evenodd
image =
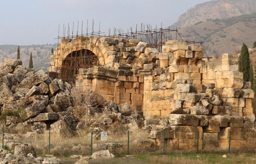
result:
M 44 71 L 40 70 L 40 71 L 37 71 L 36 73 L 34 73 L 33 75 L 26 77 L 24 80 L 22 80 L 21 83 L 19 84 L 19 87 L 31 88 L 33 86 L 36 86 L 36 85 L 44 82 L 47 79 L 48 79 L 48 77 L 44 73 Z

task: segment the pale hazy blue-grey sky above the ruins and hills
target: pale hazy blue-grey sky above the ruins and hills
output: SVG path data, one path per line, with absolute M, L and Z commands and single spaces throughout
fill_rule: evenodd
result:
M 127 29 L 136 24 L 152 24 L 167 27 L 178 16 L 196 4 L 210 0 L 12 0 L 1 1 L 0 45 L 56 43 L 58 25 L 94 19 L 95 31 L 101 23 L 101 31 L 108 33 L 113 27 Z M 81 26 L 79 27 L 81 31 Z M 97 29 L 97 30 L 96 30 Z M 62 33 L 62 32 L 61 32 Z M 80 32 L 81 33 L 81 32 Z

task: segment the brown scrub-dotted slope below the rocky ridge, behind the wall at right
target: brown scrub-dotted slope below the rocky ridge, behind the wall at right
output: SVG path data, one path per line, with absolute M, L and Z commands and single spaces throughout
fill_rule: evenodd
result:
M 204 42 L 208 56 L 220 57 L 222 53 L 240 50 L 243 42 L 252 48 L 256 40 L 256 13 L 221 20 L 208 19 L 178 31 L 183 40 Z

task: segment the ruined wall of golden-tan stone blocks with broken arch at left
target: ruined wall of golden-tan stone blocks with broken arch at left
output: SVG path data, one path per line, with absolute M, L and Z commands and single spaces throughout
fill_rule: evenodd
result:
M 61 40 L 51 56 L 49 74 L 61 74 L 57 69 L 61 59 L 82 49 L 81 44 L 90 44 L 88 49 L 100 65 L 80 68 L 76 85 L 91 85 L 107 101 L 127 102 L 133 110 L 143 111 L 145 118 L 167 117 L 162 124 L 168 127 L 169 145 L 186 149 L 185 143 L 196 142 L 197 131 L 199 143 L 212 133 L 226 148 L 231 131 L 231 143 L 237 148 L 256 144 L 254 93 L 238 72 L 237 54 L 223 54 L 219 62 L 205 61 L 203 46 L 178 40 L 168 40 L 159 52 L 136 39 L 78 37 Z M 157 142 L 161 137 L 150 138 Z

